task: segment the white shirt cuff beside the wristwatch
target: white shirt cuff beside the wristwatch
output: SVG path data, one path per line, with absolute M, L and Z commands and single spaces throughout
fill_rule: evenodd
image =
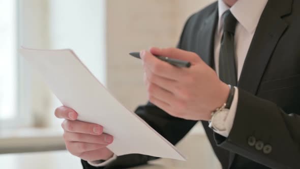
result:
M 225 130 L 223 131 L 217 131 L 214 130 L 216 133 L 224 136 L 224 137 L 228 137 L 231 128 L 233 126 L 233 121 L 234 121 L 234 117 L 235 117 L 235 112 L 236 112 L 236 107 L 237 107 L 237 101 L 238 101 L 238 89 L 236 87 L 235 88 L 235 92 L 234 92 L 234 96 L 233 96 L 233 100 L 230 106 L 230 109 L 228 111 L 227 117 L 225 121 L 220 121 L 220 123 L 225 123 Z

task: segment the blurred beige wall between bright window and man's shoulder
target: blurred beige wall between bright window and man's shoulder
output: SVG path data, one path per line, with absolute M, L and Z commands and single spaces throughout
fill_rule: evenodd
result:
M 141 62 L 127 53 L 174 47 L 186 19 L 212 0 L 107 1 L 107 86 L 129 109 L 146 102 Z

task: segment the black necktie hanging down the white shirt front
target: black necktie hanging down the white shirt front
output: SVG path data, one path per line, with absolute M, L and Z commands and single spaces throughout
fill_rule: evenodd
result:
M 236 19 L 227 10 L 224 13 L 223 36 L 221 40 L 219 58 L 219 77 L 228 85 L 237 85 L 237 73 L 234 59 L 234 32 Z

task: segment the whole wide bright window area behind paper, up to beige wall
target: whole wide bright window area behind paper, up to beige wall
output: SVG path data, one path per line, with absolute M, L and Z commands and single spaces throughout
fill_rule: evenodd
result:
M 53 112 L 61 103 L 18 56 L 20 46 L 72 48 L 105 82 L 105 1 L 0 0 L 0 130 L 60 129 Z

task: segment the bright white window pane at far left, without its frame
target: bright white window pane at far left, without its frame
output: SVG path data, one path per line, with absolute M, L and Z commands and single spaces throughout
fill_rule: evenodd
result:
M 0 121 L 17 116 L 16 7 L 0 0 Z

